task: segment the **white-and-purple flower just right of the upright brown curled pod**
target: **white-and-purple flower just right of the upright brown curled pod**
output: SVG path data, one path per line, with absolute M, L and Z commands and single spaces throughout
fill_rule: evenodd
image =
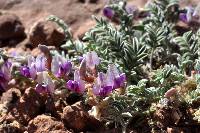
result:
M 51 66 L 51 71 L 57 77 L 64 77 L 65 75 L 68 75 L 72 69 L 72 63 L 58 55 L 53 57 Z

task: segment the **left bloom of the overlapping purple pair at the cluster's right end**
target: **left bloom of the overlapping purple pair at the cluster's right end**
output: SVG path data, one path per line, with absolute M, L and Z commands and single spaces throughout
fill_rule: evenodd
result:
M 104 97 L 110 94 L 112 90 L 113 87 L 108 81 L 107 76 L 102 72 L 98 73 L 97 80 L 93 86 L 93 93 L 97 96 Z

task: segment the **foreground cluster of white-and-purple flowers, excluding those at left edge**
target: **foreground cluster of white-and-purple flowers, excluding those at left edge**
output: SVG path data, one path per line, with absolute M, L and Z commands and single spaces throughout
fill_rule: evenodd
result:
M 93 93 L 97 96 L 107 96 L 114 89 L 125 86 L 126 77 L 124 73 L 119 73 L 117 67 L 113 64 L 108 66 L 107 73 L 97 73 L 97 66 L 100 64 L 100 59 L 96 52 L 91 51 L 83 55 L 80 67 L 74 68 L 72 62 L 62 57 L 55 55 L 52 57 L 51 70 L 46 67 L 47 59 L 43 55 L 38 55 L 36 58 L 29 56 L 28 63 L 20 68 L 21 75 L 36 81 L 36 91 L 39 93 L 52 94 L 56 85 L 54 80 L 64 79 L 66 88 L 76 93 L 84 93 L 86 91 L 85 83 L 88 78 L 93 78 Z M 74 73 L 74 79 L 70 79 L 69 74 Z M 51 74 L 53 76 L 50 76 Z M 57 77 L 57 78 L 53 78 Z

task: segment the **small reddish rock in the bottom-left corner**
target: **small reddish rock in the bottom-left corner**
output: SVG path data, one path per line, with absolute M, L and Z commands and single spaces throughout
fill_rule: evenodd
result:
M 25 128 L 17 121 L 13 121 L 12 123 L 0 124 L 1 133 L 22 133 L 24 132 L 24 130 Z

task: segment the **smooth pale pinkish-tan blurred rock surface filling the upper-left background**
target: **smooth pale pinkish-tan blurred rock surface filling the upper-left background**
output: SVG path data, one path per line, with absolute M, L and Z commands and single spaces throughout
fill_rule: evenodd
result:
M 88 3 L 86 3 L 88 1 Z M 0 9 L 16 13 L 22 20 L 25 29 L 30 29 L 33 23 L 49 15 L 62 18 L 76 31 L 91 15 L 99 15 L 105 4 L 104 0 L 0 0 Z

